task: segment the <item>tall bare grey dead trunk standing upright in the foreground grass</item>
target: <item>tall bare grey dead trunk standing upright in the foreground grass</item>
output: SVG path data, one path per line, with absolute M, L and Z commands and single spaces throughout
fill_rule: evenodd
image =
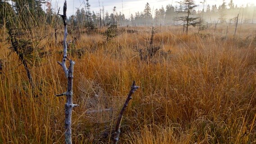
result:
M 66 144 L 72 144 L 72 138 L 71 138 L 71 134 L 72 134 L 71 133 L 72 109 L 74 107 L 77 107 L 78 105 L 73 104 L 73 99 L 72 99 L 72 95 L 73 95 L 73 68 L 74 68 L 75 62 L 72 61 L 71 59 L 69 60 L 67 58 L 66 40 L 67 40 L 67 36 L 68 36 L 68 30 L 67 30 L 67 21 L 66 21 L 67 20 L 66 11 L 67 11 L 67 1 L 65 0 L 64 7 L 63 7 L 63 15 L 61 15 L 61 17 L 63 19 L 63 23 L 64 23 L 64 40 L 63 40 L 64 49 L 63 49 L 62 62 L 58 62 L 58 63 L 63 68 L 65 76 L 68 79 L 68 90 L 67 90 L 67 92 L 64 92 L 63 94 L 57 94 L 56 96 L 66 95 L 66 97 L 67 97 L 67 103 L 65 104 L 65 143 Z M 69 60 L 69 68 L 67 68 L 67 66 L 66 66 L 66 59 Z

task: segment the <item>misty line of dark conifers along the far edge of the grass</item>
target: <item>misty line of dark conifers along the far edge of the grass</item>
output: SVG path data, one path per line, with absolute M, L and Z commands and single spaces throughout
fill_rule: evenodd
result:
M 253 4 L 238 7 L 233 0 L 223 0 L 220 5 L 210 5 L 206 4 L 206 0 L 202 0 L 203 9 L 198 10 L 198 4 L 194 4 L 190 7 L 192 15 L 187 17 L 186 2 L 195 3 L 194 0 L 181 0 L 175 3 L 175 6 L 168 4 L 154 9 L 152 9 L 153 5 L 146 3 L 143 11 L 125 16 L 118 12 L 115 6 L 112 11 L 106 11 L 103 5 L 99 11 L 92 11 L 89 0 L 85 0 L 67 21 L 73 26 L 99 28 L 111 23 L 119 26 L 184 25 L 187 21 L 184 18 L 189 18 L 194 19 L 194 24 L 197 25 L 202 19 L 205 23 L 217 21 L 234 23 L 232 18 L 243 14 L 240 23 L 256 23 L 256 6 Z M 42 9 L 42 4 L 45 4 L 45 10 Z M 0 0 L 0 27 L 4 23 L 17 22 L 29 25 L 40 23 L 55 25 L 55 23 L 61 23 L 61 19 L 56 14 L 57 10 L 52 9 L 50 0 Z M 29 22 L 28 19 L 30 19 Z

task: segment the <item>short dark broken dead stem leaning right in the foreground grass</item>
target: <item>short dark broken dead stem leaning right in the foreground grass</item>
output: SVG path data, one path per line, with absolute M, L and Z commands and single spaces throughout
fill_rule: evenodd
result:
M 132 94 L 135 93 L 135 91 L 139 88 L 139 86 L 135 85 L 135 81 L 133 81 L 133 85 L 131 86 L 131 90 L 127 96 L 127 99 L 125 103 L 123 104 L 123 108 L 121 109 L 118 119 L 116 121 L 116 126 L 115 126 L 115 132 L 114 132 L 114 144 L 117 144 L 119 140 L 119 135 L 120 135 L 120 126 L 121 126 L 121 121 L 123 118 L 123 112 L 126 110 L 126 107 L 128 106 L 129 101 L 132 99 Z

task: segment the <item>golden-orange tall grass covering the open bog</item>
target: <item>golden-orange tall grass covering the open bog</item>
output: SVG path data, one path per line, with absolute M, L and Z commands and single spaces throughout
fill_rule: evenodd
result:
M 230 26 L 227 38 L 226 27 L 200 35 L 190 27 L 187 36 L 182 27 L 156 27 L 154 44 L 162 49 L 148 62 L 133 47 L 145 48 L 151 27 L 124 29 L 137 32 L 124 31 L 106 42 L 99 34 L 104 30 L 90 34 L 84 30 L 75 49 L 84 48 L 85 53 L 69 53 L 76 62 L 73 101 L 79 104 L 72 115 L 74 144 L 113 141 L 118 111 L 110 121 L 91 121 L 86 113 L 89 95 L 82 93 L 90 91 L 87 81 L 101 86 L 108 94 L 104 99 L 116 99 L 115 110 L 119 110 L 133 80 L 140 88 L 124 113 L 119 144 L 256 143 L 256 25 L 242 25 L 236 36 Z M 54 29 L 31 31 L 46 36 Z M 1 38 L 6 39 L 7 32 L 1 29 Z M 69 31 L 68 40 L 76 34 Z M 62 39 L 59 29 L 59 43 Z M 21 61 L 8 49 L 9 41 L 0 42 L 0 144 L 64 143 L 66 99 L 55 97 L 67 87 L 57 63 L 63 46 L 55 44 L 51 35 L 40 45 L 51 53 L 41 59 L 40 66 L 30 66 L 35 81 L 32 91 Z

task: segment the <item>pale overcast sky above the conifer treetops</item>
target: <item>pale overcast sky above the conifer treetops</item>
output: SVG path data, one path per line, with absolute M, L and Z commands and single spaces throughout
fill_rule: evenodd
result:
M 68 16 L 75 14 L 76 9 L 82 9 L 84 7 L 85 0 L 67 0 L 67 14 Z M 167 4 L 178 5 L 176 1 L 180 0 L 100 0 L 100 5 L 104 5 L 105 12 L 112 12 L 114 6 L 116 6 L 116 12 L 121 12 L 125 15 L 125 18 L 128 18 L 130 14 L 135 15 L 135 12 L 143 11 L 146 3 L 148 2 L 151 7 L 151 12 L 154 14 L 155 9 L 159 9 L 162 6 L 165 8 Z M 203 0 L 195 0 L 196 4 L 198 4 L 197 10 L 202 9 L 202 4 L 200 1 Z M 228 4 L 230 0 L 225 0 Z M 57 7 L 63 7 L 64 0 L 51 0 L 52 7 L 55 11 L 57 11 Z M 217 7 L 223 3 L 223 0 L 206 0 L 205 5 L 217 4 Z M 239 6 L 246 4 L 255 4 L 256 0 L 233 0 L 234 4 L 238 4 Z M 89 0 L 89 4 L 91 4 L 91 11 L 99 12 L 99 0 Z M 46 8 L 45 8 L 46 9 Z

